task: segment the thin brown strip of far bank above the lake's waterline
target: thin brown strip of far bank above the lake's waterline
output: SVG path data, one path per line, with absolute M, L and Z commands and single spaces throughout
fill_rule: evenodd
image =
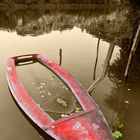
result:
M 2 4 L 134 4 L 139 0 L 0 0 Z

